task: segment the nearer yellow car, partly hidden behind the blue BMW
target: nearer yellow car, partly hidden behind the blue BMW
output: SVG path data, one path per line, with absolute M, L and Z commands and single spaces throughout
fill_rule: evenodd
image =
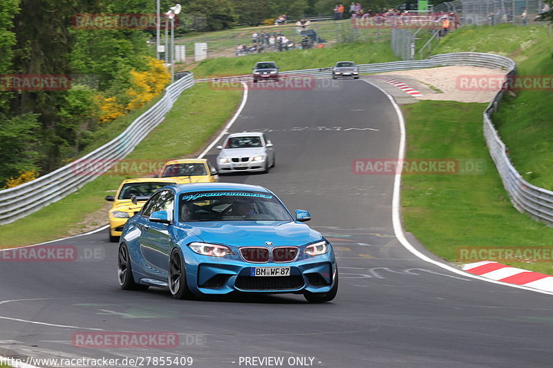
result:
M 137 179 L 124 180 L 115 196 L 108 195 L 106 201 L 113 202 L 109 210 L 109 241 L 118 242 L 126 220 L 133 217 L 144 203 L 162 186 L 170 184 L 181 184 L 187 181 L 171 177 L 139 177 Z M 135 195 L 136 203 L 131 197 Z

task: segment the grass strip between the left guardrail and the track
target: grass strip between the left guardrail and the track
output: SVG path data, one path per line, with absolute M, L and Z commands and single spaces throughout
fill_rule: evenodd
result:
M 192 155 L 232 116 L 241 95 L 241 90 L 215 90 L 207 84 L 185 90 L 165 121 L 126 159 L 140 163 Z M 12 224 L 0 226 L 0 248 L 63 238 L 71 235 L 70 230 L 79 233 L 82 232 L 79 229 L 87 226 L 106 224 L 104 197 L 113 194 L 120 182 L 129 177 L 102 175 L 63 200 Z M 95 212 L 99 212 L 96 218 L 88 217 Z

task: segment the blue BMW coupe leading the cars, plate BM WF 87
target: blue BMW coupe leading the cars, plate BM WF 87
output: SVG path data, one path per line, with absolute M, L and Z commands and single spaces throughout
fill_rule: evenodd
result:
M 204 294 L 301 293 L 328 302 L 338 290 L 332 245 L 262 186 L 160 188 L 121 235 L 124 290 L 167 287 L 176 299 Z

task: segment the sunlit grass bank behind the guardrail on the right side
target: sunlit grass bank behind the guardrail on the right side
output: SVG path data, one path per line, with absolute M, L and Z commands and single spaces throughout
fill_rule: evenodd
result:
M 553 190 L 552 49 L 553 37 L 548 37 L 547 27 L 540 23 L 526 27 L 465 27 L 442 39 L 436 50 L 504 55 L 516 61 L 519 76 L 549 81 L 547 90 L 516 91 L 516 97 L 506 93 L 493 117 L 518 172 L 532 184 L 549 190 Z

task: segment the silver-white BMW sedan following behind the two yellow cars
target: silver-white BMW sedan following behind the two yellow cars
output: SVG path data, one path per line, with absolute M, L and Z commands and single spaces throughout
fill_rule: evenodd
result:
M 274 147 L 263 133 L 234 133 L 217 146 L 217 170 L 220 174 L 240 171 L 266 173 L 274 166 Z

